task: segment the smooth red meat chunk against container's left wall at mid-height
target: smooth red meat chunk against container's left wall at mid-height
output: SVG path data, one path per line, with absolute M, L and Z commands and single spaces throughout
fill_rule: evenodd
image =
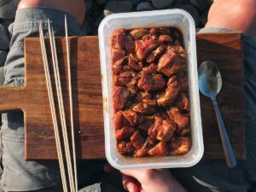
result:
M 113 87 L 113 109 L 114 112 L 120 111 L 125 107 L 126 102 L 130 98 L 130 92 L 125 87 Z

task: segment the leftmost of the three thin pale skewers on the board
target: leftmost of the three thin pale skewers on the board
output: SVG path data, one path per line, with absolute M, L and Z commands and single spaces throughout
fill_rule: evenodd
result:
M 63 155 L 61 151 L 61 139 L 60 139 L 60 133 L 59 133 L 58 123 L 56 118 L 55 101 L 54 101 L 52 85 L 51 85 L 51 80 L 49 75 L 49 63 L 46 55 L 44 33 L 43 33 L 41 22 L 39 25 L 39 35 L 40 35 L 40 43 L 41 43 L 41 49 L 42 49 L 42 55 L 43 55 L 43 61 L 44 61 L 44 73 L 45 73 L 46 85 L 47 85 L 48 96 L 49 96 L 49 105 L 50 105 L 51 117 L 52 117 L 54 131 L 55 131 L 55 143 L 56 143 L 58 160 L 59 160 L 59 165 L 61 170 L 62 187 L 63 187 L 63 191 L 67 192 L 67 177 L 65 173 Z

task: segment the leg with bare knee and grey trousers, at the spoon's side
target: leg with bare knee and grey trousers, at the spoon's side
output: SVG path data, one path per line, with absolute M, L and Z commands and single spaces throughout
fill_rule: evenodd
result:
M 217 0 L 200 32 L 239 31 L 243 35 L 247 160 L 229 169 L 225 161 L 201 161 L 172 172 L 191 192 L 254 192 L 256 186 L 256 18 L 254 0 Z M 248 37 L 250 36 L 250 37 Z M 253 39 L 252 39 L 253 38 Z

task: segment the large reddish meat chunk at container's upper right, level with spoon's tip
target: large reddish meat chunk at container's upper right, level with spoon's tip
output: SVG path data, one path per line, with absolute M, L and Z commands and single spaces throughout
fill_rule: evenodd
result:
M 167 48 L 168 49 L 168 48 Z M 176 48 L 172 48 L 160 57 L 157 71 L 171 77 L 175 73 L 186 70 L 186 60 L 179 56 Z

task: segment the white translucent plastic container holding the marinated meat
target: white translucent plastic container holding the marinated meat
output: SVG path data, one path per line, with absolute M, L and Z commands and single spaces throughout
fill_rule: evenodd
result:
M 187 52 L 189 76 L 190 123 L 192 148 L 182 156 L 166 157 L 125 157 L 117 151 L 113 127 L 113 73 L 111 46 L 109 38 L 115 29 L 148 28 L 175 26 L 183 33 Z M 197 79 L 197 60 L 195 49 L 195 22 L 189 13 L 181 9 L 146 11 L 127 14 L 114 14 L 102 20 L 99 26 L 99 44 L 102 68 L 102 95 L 105 129 L 105 148 L 108 162 L 117 169 L 171 168 L 194 166 L 201 160 L 204 146 L 201 128 L 201 108 Z

